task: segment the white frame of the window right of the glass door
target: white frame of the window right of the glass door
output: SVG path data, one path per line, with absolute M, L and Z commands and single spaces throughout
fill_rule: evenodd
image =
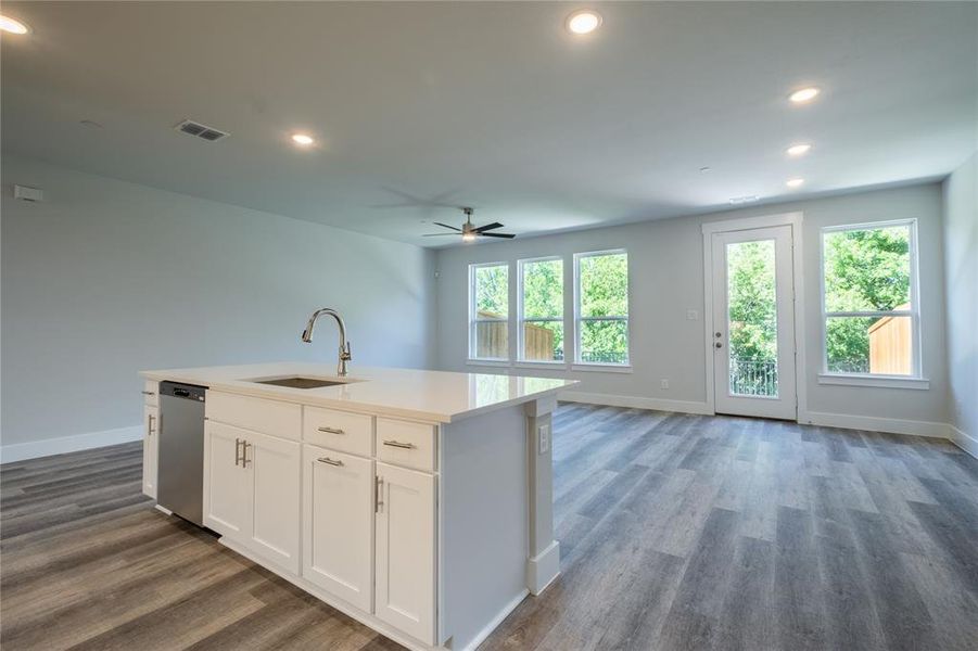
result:
M 825 308 L 825 235 L 833 232 L 851 230 L 879 230 L 894 226 L 907 227 L 910 241 L 907 254 L 910 256 L 910 304 L 911 309 L 898 310 L 856 310 L 856 311 L 827 311 Z M 818 384 L 842 384 L 851 386 L 879 386 L 891 388 L 929 388 L 930 383 L 923 375 L 923 360 L 920 352 L 920 291 L 919 291 L 919 264 L 917 256 L 917 220 L 892 219 L 887 221 L 871 221 L 864 224 L 840 224 L 827 226 L 822 229 L 818 238 L 818 282 L 822 298 L 822 372 L 818 373 Z M 912 345 L 912 373 L 910 375 L 892 375 L 886 373 L 840 373 L 828 370 L 828 319 L 833 317 L 910 317 L 911 319 L 911 345 Z

